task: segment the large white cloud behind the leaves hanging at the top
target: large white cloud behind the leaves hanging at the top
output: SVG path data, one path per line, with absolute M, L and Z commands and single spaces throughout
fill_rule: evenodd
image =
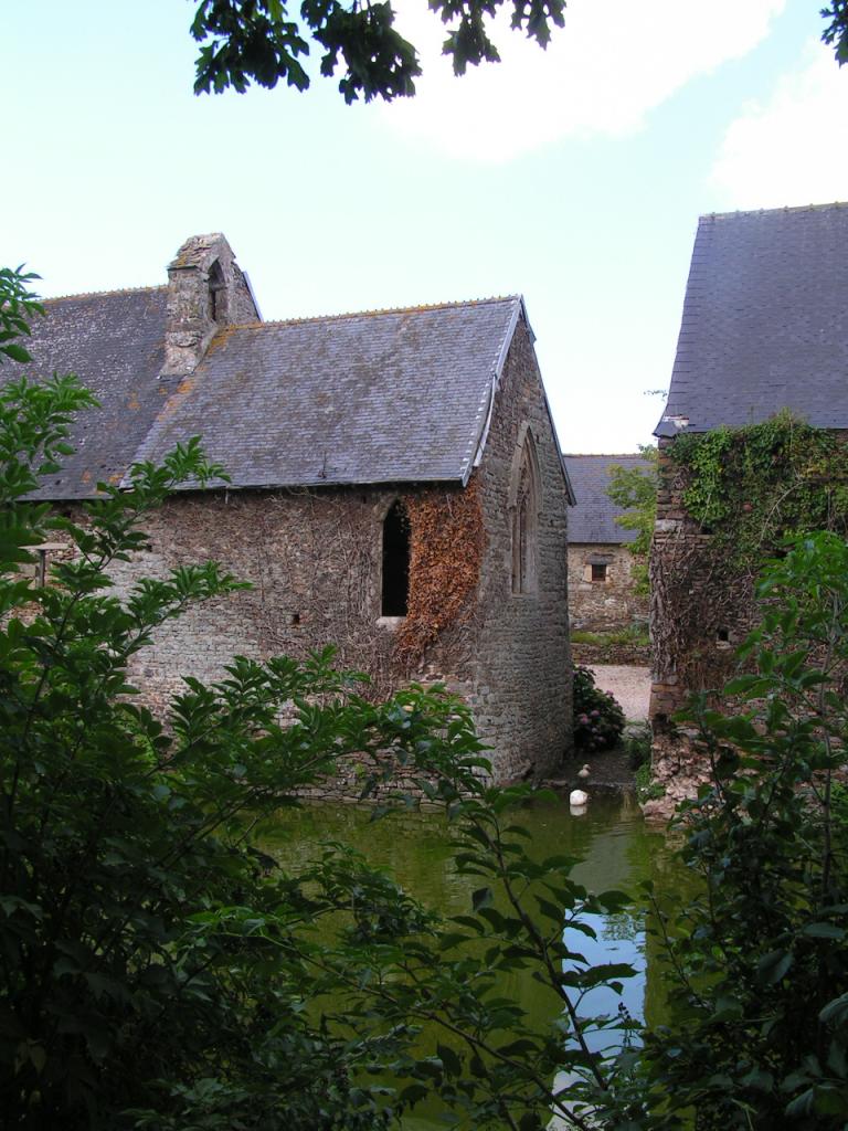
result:
M 508 26 L 493 38 L 502 63 L 455 79 L 445 31 L 421 0 L 401 0 L 399 29 L 419 49 L 413 100 L 383 109 L 406 136 L 452 156 L 507 161 L 565 136 L 620 135 L 690 79 L 751 51 L 785 0 L 570 0 L 547 51 Z

